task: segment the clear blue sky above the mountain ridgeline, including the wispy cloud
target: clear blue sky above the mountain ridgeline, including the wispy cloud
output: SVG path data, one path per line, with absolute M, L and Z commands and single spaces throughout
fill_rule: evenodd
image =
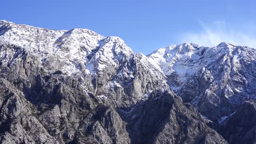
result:
M 4 0 L 0 19 L 119 36 L 135 52 L 185 42 L 256 47 L 255 0 Z

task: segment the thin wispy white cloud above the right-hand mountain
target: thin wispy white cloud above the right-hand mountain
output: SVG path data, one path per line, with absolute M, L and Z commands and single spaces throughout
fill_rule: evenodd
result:
M 197 43 L 202 46 L 217 46 L 221 42 L 239 46 L 256 48 L 256 26 L 253 23 L 230 25 L 225 21 L 210 24 L 200 22 L 202 30 L 186 33 L 183 41 Z

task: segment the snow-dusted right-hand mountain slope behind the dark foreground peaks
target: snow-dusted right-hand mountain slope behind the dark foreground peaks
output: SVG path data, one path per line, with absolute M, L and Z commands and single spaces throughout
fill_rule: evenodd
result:
M 148 58 L 165 73 L 171 89 L 184 102 L 213 121 L 256 98 L 256 52 L 252 48 L 184 43 L 158 49 Z

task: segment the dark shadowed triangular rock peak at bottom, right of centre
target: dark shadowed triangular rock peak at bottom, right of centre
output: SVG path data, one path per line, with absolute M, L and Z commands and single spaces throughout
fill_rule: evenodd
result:
M 173 92 L 156 90 L 131 111 L 121 111 L 132 144 L 227 144 L 200 114 Z

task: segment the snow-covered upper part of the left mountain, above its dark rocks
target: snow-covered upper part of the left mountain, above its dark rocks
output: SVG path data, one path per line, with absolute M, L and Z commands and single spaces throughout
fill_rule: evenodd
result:
M 101 36 L 89 29 L 52 30 L 1 20 L 0 44 L 19 49 L 1 49 L 3 66 L 18 62 L 20 53 L 26 52 L 49 73 L 79 75 L 84 82 L 92 79 L 85 85 L 92 85 L 95 95 L 110 95 L 111 89 L 118 89 L 119 98 L 131 95 L 133 100 L 128 101 L 138 101 L 154 88 L 169 88 L 165 75 L 146 56 L 135 54 L 119 37 Z

